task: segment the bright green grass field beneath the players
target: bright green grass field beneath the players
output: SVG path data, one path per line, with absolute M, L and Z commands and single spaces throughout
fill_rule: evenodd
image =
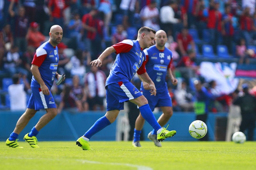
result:
M 0 142 L 0 170 L 254 170 L 256 142 L 170 142 L 163 147 L 142 141 L 141 148 L 129 142 L 90 142 L 83 151 L 68 142 L 40 142 L 40 148 L 9 148 Z

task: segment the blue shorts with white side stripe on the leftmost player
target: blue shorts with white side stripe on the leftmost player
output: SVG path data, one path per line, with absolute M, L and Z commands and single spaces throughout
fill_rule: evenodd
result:
M 32 94 L 28 101 L 28 108 L 35 110 L 56 108 L 51 91 L 50 95 L 44 95 L 42 90 L 38 87 L 31 87 L 31 90 Z

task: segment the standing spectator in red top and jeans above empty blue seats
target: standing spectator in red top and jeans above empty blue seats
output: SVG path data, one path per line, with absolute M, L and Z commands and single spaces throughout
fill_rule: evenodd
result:
M 219 0 L 214 0 L 210 4 L 209 8 L 209 18 L 207 27 L 210 30 L 210 42 L 212 44 L 213 50 L 216 53 L 216 47 L 221 38 L 221 13 L 219 11 L 220 3 Z

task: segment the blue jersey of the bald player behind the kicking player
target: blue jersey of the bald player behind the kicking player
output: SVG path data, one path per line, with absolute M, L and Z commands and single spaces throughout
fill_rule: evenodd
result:
M 168 48 L 164 50 L 159 50 L 156 48 L 156 45 L 151 46 L 144 50 L 146 54 L 145 64 L 146 71 L 148 76 L 152 79 L 156 86 L 157 91 L 164 91 L 167 88 L 166 83 L 166 74 L 167 70 L 171 66 L 172 60 L 172 51 Z M 145 91 L 141 83 L 141 90 Z

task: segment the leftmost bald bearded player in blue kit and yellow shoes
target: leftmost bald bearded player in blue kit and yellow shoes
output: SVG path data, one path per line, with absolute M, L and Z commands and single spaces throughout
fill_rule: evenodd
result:
M 57 115 L 56 104 L 50 89 L 55 78 L 57 78 L 57 80 L 62 78 L 62 76 L 57 73 L 59 62 L 57 44 L 62 40 L 62 34 L 63 31 L 59 25 L 52 26 L 49 33 L 49 41 L 46 41 L 36 49 L 36 54 L 34 55 L 31 66 L 31 72 L 33 74 L 31 80 L 32 94 L 25 113 L 21 115 L 14 131 L 5 142 L 9 147 L 20 147 L 17 142 L 20 132 L 38 110 L 45 109 L 46 114 L 44 114 L 31 131 L 24 136 L 24 140 L 26 140 L 32 148 L 39 148 L 36 135 L 39 130 Z

